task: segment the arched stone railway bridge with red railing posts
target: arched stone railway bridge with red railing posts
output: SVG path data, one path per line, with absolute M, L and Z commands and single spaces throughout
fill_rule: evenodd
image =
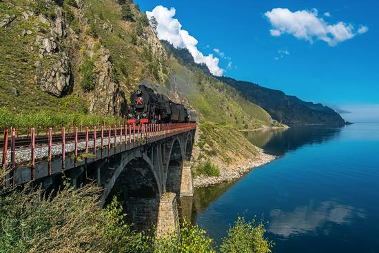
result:
M 114 125 L 31 129 L 18 136 L 5 130 L 0 148 L 2 186 L 41 184 L 57 190 L 63 174 L 79 188 L 90 182 L 104 190 L 103 207 L 114 195 L 137 229 L 156 225 L 164 235 L 178 228 L 177 200 L 192 196 L 191 159 L 196 124 Z M 6 172 L 6 173 L 4 173 Z

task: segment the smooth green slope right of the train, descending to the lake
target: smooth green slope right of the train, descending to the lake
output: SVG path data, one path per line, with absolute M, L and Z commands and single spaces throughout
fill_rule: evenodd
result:
M 189 103 L 201 115 L 201 121 L 228 123 L 238 129 L 272 124 L 265 110 L 247 101 L 234 88 L 207 76 L 199 68 L 179 64 L 173 57 L 171 62 L 176 88 L 186 94 Z

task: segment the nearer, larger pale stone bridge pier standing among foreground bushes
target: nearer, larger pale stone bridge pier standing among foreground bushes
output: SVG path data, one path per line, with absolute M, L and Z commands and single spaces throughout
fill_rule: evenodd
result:
M 173 232 L 180 233 L 176 194 L 165 192 L 159 203 L 156 236 L 165 237 Z

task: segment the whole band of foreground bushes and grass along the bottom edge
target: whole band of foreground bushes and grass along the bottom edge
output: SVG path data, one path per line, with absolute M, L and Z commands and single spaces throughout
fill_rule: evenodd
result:
M 97 186 L 74 190 L 68 182 L 62 190 L 50 195 L 28 187 L 0 190 L 0 252 L 214 253 L 217 250 L 205 230 L 189 223 L 181 226 L 181 236 L 174 233 L 165 239 L 156 238 L 154 233 L 135 232 L 125 223 L 126 214 L 116 198 L 105 209 L 98 207 L 100 193 Z M 238 218 L 220 249 L 269 253 L 271 247 L 262 223 Z

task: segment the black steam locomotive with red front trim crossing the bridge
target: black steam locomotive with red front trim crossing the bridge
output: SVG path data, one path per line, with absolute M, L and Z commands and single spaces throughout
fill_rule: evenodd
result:
M 130 94 L 130 101 L 127 123 L 196 123 L 196 110 L 188 110 L 145 85 Z

